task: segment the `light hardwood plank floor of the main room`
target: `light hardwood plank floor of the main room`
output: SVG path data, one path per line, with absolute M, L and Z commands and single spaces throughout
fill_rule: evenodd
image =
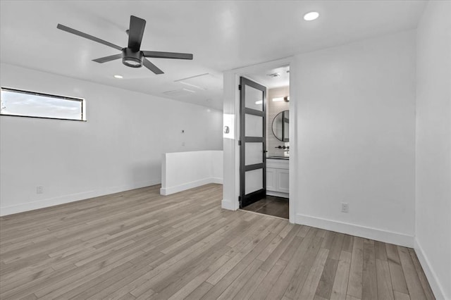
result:
M 154 186 L 0 218 L 0 298 L 434 299 L 412 249 L 221 197 Z

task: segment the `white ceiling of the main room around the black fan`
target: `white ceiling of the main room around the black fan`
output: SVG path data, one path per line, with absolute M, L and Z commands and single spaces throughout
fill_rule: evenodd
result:
M 224 70 L 415 28 L 426 1 L 34 0 L 0 5 L 3 63 L 222 109 Z M 320 18 L 302 20 L 309 11 L 319 11 Z M 147 20 L 142 50 L 187 52 L 194 60 L 152 58 L 163 75 L 125 67 L 121 60 L 94 63 L 119 52 L 56 29 L 61 23 L 126 46 L 130 15 Z M 113 78 L 116 74 L 124 78 Z M 202 89 L 176 81 L 193 76 L 191 84 Z M 180 92 L 183 88 L 192 92 Z

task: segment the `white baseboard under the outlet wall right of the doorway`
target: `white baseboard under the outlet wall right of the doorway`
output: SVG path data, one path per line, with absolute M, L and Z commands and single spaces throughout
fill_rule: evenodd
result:
M 400 246 L 407 246 L 413 248 L 414 236 L 404 235 L 399 232 L 392 232 L 387 230 L 380 230 L 373 227 L 366 227 L 350 223 L 338 222 L 335 220 L 328 220 L 323 218 L 316 218 L 310 215 L 296 215 L 296 223 L 318 227 L 335 232 L 346 233 L 347 235 L 355 235 L 356 237 L 365 237 L 367 239 L 374 239 L 376 241 L 397 244 Z

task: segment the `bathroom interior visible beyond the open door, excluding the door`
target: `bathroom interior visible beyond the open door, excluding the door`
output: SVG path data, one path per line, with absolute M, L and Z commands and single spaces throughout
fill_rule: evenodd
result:
M 266 87 L 266 197 L 242 209 L 288 219 L 290 66 L 246 77 Z

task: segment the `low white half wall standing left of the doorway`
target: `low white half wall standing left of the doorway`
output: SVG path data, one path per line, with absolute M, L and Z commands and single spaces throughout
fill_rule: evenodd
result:
M 161 155 L 162 195 L 223 183 L 223 151 L 189 151 Z

